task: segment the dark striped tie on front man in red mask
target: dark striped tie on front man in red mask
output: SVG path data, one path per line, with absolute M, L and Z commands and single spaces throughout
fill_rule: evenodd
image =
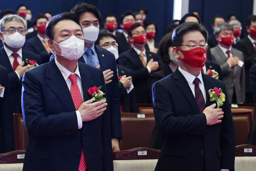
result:
M 198 78 L 195 78 L 195 80 L 193 81 L 193 83 L 195 84 L 196 103 L 197 103 L 197 106 L 200 110 L 200 113 L 202 113 L 204 111 L 205 102 L 204 102 L 203 93 L 202 93 L 202 91 L 200 90 L 200 87 L 199 87 L 199 82 L 200 82 L 200 80 Z

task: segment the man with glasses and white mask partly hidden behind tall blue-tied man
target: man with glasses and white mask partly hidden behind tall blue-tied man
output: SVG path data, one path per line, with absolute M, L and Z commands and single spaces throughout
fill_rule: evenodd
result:
M 100 33 L 96 45 L 107 49 L 111 53 L 113 53 L 118 59 L 118 44 L 116 43 L 116 37 L 111 33 Z M 134 88 L 127 91 L 131 88 L 132 85 L 132 72 L 126 67 L 122 67 L 121 65 L 117 66 L 117 73 L 119 79 L 119 95 L 120 95 L 120 111 L 126 113 L 136 113 L 136 97 Z

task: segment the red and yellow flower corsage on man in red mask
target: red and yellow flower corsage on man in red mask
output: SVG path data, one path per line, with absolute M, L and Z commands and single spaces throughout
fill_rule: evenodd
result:
M 214 89 L 208 90 L 210 95 L 210 101 L 216 101 L 217 102 L 217 108 L 220 108 L 225 102 L 225 94 L 222 92 L 221 88 L 214 87 Z

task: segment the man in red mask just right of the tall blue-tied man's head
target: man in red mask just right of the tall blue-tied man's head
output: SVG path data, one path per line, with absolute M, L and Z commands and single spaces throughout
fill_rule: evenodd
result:
M 118 34 L 122 34 L 121 32 L 117 31 L 118 23 L 116 22 L 116 17 L 114 14 L 108 13 L 104 17 L 104 29 L 100 29 L 99 33 L 111 33 L 114 36 Z

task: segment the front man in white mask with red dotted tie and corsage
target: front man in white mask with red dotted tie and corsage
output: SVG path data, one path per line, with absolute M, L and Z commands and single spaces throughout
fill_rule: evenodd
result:
M 109 98 L 102 71 L 78 63 L 84 53 L 78 17 L 70 12 L 54 16 L 46 37 L 54 59 L 22 80 L 30 136 L 23 171 L 113 171 Z

